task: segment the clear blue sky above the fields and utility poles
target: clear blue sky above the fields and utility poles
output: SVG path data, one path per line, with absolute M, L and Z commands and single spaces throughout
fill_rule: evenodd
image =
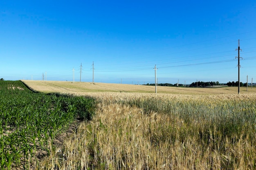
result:
M 255 0 L 0 1 L 0 77 L 256 82 Z

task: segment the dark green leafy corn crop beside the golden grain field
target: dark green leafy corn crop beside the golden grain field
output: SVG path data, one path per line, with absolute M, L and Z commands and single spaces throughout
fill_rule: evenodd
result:
M 20 81 L 0 81 L 0 101 L 1 169 L 29 169 L 76 118 L 91 119 L 95 106 L 92 98 L 35 93 Z

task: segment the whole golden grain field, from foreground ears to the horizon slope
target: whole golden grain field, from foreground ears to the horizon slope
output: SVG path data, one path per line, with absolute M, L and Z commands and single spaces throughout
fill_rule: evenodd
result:
M 38 170 L 256 169 L 255 88 L 238 95 L 232 87 L 157 87 L 155 94 L 154 86 L 23 82 L 97 101 L 92 120 L 53 146 Z

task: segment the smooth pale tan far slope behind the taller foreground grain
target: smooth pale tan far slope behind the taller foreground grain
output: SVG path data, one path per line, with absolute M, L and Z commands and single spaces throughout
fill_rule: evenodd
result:
M 60 92 L 72 93 L 77 95 L 86 95 L 88 92 L 130 92 L 130 93 L 155 93 L 155 86 L 142 86 L 131 84 L 109 84 L 109 83 L 90 83 L 90 82 L 61 82 L 61 81 L 31 81 L 22 80 L 27 86 L 35 91 L 45 93 Z M 237 87 L 222 88 L 177 88 L 158 86 L 157 93 L 167 94 L 237 94 Z M 240 88 L 240 94 L 256 93 L 256 88 Z

